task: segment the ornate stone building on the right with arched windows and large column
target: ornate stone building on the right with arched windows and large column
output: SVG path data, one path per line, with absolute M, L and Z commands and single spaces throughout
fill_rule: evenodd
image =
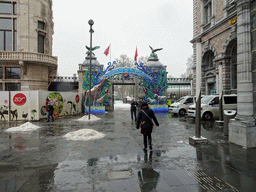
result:
M 193 0 L 193 19 L 193 93 L 201 65 L 203 95 L 237 93 L 229 140 L 256 147 L 256 1 Z

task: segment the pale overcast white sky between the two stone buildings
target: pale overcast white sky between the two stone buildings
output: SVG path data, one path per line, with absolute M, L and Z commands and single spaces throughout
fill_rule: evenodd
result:
M 105 66 L 110 56 L 103 53 L 111 44 L 111 60 L 127 55 L 134 59 L 156 52 L 167 65 L 168 74 L 179 77 L 192 55 L 193 1 L 191 0 L 75 0 L 53 1 L 53 56 L 58 57 L 58 74 L 72 76 L 85 59 L 90 46 L 90 26 L 94 21 L 92 46 Z

